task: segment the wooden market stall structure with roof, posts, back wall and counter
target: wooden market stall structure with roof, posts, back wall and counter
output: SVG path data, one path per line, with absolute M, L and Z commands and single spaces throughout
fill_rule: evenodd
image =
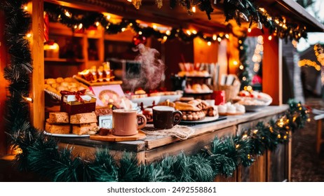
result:
M 181 152 L 184 152 L 186 155 L 194 155 L 198 151 L 201 151 L 204 146 L 210 144 L 215 137 L 240 135 L 246 130 L 255 130 L 255 126 L 259 122 L 268 123 L 271 119 L 275 120 L 280 118 L 288 110 L 288 106 L 283 105 L 282 99 L 283 39 L 279 38 L 281 36 L 279 34 L 280 32 L 262 27 L 262 24 L 260 26 L 261 19 L 258 21 L 254 18 L 251 26 L 250 22 L 243 22 L 246 15 L 240 15 L 239 12 L 236 12 L 237 15 L 232 15 L 232 17 L 242 20 L 241 26 L 238 26 L 235 20 L 226 22 L 225 13 L 228 11 L 226 6 L 229 6 L 229 4 L 224 3 L 224 1 L 217 1 L 217 3 L 208 1 L 208 5 L 210 4 L 211 6 L 210 8 L 214 9 L 210 13 L 210 20 L 208 20 L 208 16 L 206 15 L 208 11 L 202 12 L 197 8 L 197 11 L 189 15 L 188 10 L 181 6 L 175 6 L 175 8 L 170 9 L 170 3 L 172 2 L 172 0 L 163 1 L 163 6 L 158 8 L 155 1 L 143 0 L 142 5 L 137 10 L 132 3 L 126 0 L 29 1 L 26 10 L 32 15 L 32 27 L 30 31 L 32 38 L 30 39 L 30 43 L 33 71 L 29 92 L 29 97 L 32 100 L 29 103 L 32 125 L 43 130 L 44 122 L 46 122 L 46 113 L 43 111 L 46 111 L 48 108 L 46 107 L 44 94 L 44 79 L 72 76 L 78 73 L 78 71 L 90 69 L 91 66 L 102 64 L 108 57 L 114 57 L 116 55 L 127 56 L 129 55 L 127 54 L 129 51 L 125 50 L 125 48 L 134 38 L 133 32 L 125 29 L 120 34 L 111 35 L 104 34 L 105 27 L 96 25 L 97 27 L 95 29 L 84 29 L 84 31 L 77 32 L 75 29 L 82 29 L 82 27 L 72 26 L 74 28 L 74 31 L 72 31 L 71 27 L 67 27 L 66 24 L 62 25 L 59 22 L 50 22 L 49 33 L 46 34 L 46 25 L 48 23 L 44 22 L 44 10 L 46 10 L 46 6 L 48 5 L 64 6 L 64 8 L 71 10 L 84 10 L 86 12 L 109 13 L 109 18 L 114 16 L 116 20 L 121 20 L 122 18 L 136 20 L 136 22 L 139 21 L 147 25 L 146 27 L 152 26 L 153 29 L 163 29 L 163 27 L 189 29 L 189 32 L 186 31 L 187 34 L 185 37 L 190 36 L 190 34 L 196 34 L 193 33 L 194 31 L 203 31 L 201 38 L 196 37 L 187 42 L 179 41 L 177 38 L 173 41 L 168 41 L 168 36 L 164 36 L 166 37 L 164 41 L 163 36 L 162 38 L 160 37 L 162 41 L 152 37 L 147 38 L 147 45 L 151 48 L 156 48 L 161 53 L 161 59 L 168 66 L 168 69 L 165 71 L 166 76 L 178 73 L 180 68 L 177 64 L 184 61 L 194 63 L 218 62 L 221 64 L 220 73 L 235 74 L 239 66 L 241 66 L 241 64 L 237 63 L 240 61 L 239 44 L 242 41 L 241 38 L 245 36 L 262 36 L 264 41 L 262 91 L 272 97 L 271 106 L 266 106 L 261 111 L 247 112 L 241 116 L 227 116 L 226 120 L 198 123 L 195 125 L 191 124 L 189 127 L 193 131 L 193 134 L 188 139 L 183 140 L 170 136 L 148 136 L 146 139 L 138 141 L 112 143 L 89 140 L 88 138 L 60 139 L 60 147 L 64 148 L 66 144 L 72 144 L 74 146 L 73 153 L 75 156 L 80 155 L 86 160 L 93 160 L 96 148 L 110 148 L 112 152 L 133 152 L 136 154 L 139 162 L 150 164 L 156 160 L 161 160 L 166 155 L 178 155 Z M 324 29 L 320 22 L 311 17 L 295 1 L 263 0 L 256 3 L 258 3 L 259 7 L 262 6 L 268 13 L 283 16 L 284 20 L 281 27 L 292 23 L 299 24 L 300 27 L 294 26 L 294 33 L 297 31 L 297 34 L 294 34 L 295 39 L 304 36 L 306 31 L 323 31 Z M 207 10 L 208 8 L 208 6 L 205 7 Z M 191 10 L 191 7 L 189 10 Z M 0 14 L 2 15 L 3 13 Z M 69 15 L 69 11 L 66 10 L 65 15 Z M 264 12 L 264 15 L 266 16 L 267 13 Z M 268 15 L 268 19 L 266 20 L 272 20 L 269 17 L 270 15 Z M 0 17 L 0 29 L 2 29 L 1 27 L 4 26 L 4 23 L 4 18 Z M 213 37 L 215 34 L 217 34 L 220 40 Z M 76 48 L 78 48 L 80 57 L 74 59 L 69 59 L 69 57 L 44 57 L 43 48 L 44 40 L 46 39 L 44 36 L 57 39 L 59 45 L 69 45 L 65 41 L 65 38 L 72 36 L 75 45 L 77 45 Z M 0 43 L 3 42 L 4 37 L 0 35 Z M 95 48 L 95 52 L 91 48 Z M 8 59 L 6 59 L 6 50 L 8 48 L 0 44 L 0 49 L 0 65 L 2 71 L 8 62 Z M 5 81 L 3 78 L 4 73 L 1 71 L 0 92 L 4 93 L 6 83 L 3 82 Z M 163 86 L 168 89 L 172 85 L 171 80 L 166 80 L 163 83 Z M 4 105 L 5 97 L 4 94 L 1 94 L 1 105 Z M 1 107 L 0 114 L 5 113 L 4 111 L 4 107 Z M 0 140 L 1 144 L 6 144 L 6 136 L 2 131 L 0 131 Z M 6 155 L 7 148 L 5 145 L 0 146 L 0 155 Z M 230 178 L 217 176 L 215 181 L 290 181 L 290 158 L 291 142 L 288 142 L 288 144 L 278 146 L 276 151 L 265 151 L 263 155 L 257 156 L 256 161 L 251 167 L 239 166 Z

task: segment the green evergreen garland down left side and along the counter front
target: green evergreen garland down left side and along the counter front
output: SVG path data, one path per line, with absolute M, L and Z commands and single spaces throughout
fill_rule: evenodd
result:
M 215 138 L 197 155 L 168 156 L 149 165 L 138 165 L 132 153 L 123 153 L 117 163 L 108 149 L 98 149 L 95 160 L 72 157 L 72 148 L 58 148 L 55 137 L 46 136 L 29 121 L 27 97 L 32 59 L 28 47 L 30 19 L 23 6 L 26 1 L 7 0 L 6 44 L 11 62 L 6 66 L 8 87 L 7 132 L 20 149 L 15 160 L 20 171 L 29 171 L 51 181 L 213 181 L 215 176 L 231 176 L 239 165 L 250 166 L 258 155 L 273 151 L 288 142 L 290 133 L 304 126 L 307 109 L 293 100 L 284 116 L 269 123 L 258 123 L 231 137 Z

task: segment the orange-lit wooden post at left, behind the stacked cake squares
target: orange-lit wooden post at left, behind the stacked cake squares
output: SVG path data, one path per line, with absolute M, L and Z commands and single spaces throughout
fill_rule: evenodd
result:
M 32 125 L 36 128 L 43 129 L 44 123 L 44 20 L 43 20 L 43 0 L 32 0 L 28 9 L 32 13 L 32 59 L 33 59 L 33 73 L 32 84 L 30 88 L 30 97 L 33 103 L 30 105 L 30 115 Z

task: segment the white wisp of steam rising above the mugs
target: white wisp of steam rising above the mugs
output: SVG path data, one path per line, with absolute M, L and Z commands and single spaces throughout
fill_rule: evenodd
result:
M 160 53 L 154 48 L 149 48 L 140 43 L 134 49 L 140 54 L 135 57 L 135 61 L 141 63 L 140 76 L 128 80 L 128 85 L 134 90 L 135 87 L 143 87 L 145 89 L 155 89 L 165 79 L 165 64 L 158 59 Z M 140 86 L 142 85 L 142 86 Z

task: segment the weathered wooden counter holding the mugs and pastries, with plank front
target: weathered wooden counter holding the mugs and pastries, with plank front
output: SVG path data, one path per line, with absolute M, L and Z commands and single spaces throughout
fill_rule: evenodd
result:
M 266 106 L 257 112 L 247 112 L 239 116 L 227 116 L 226 120 L 213 123 L 191 125 L 194 134 L 189 139 L 181 140 L 175 137 L 147 136 L 144 140 L 106 142 L 88 138 L 59 138 L 60 146 L 74 146 L 74 155 L 93 159 L 96 148 L 109 148 L 112 153 L 121 155 L 123 151 L 134 152 L 140 162 L 154 162 L 166 155 L 178 155 L 184 152 L 192 155 L 210 145 L 215 137 L 233 136 L 244 130 L 255 127 L 258 122 L 269 122 L 278 118 L 288 110 L 287 105 Z M 266 152 L 259 156 L 252 166 L 239 167 L 236 174 L 229 179 L 217 178 L 217 181 L 289 181 L 290 179 L 290 145 L 278 146 L 275 152 Z

